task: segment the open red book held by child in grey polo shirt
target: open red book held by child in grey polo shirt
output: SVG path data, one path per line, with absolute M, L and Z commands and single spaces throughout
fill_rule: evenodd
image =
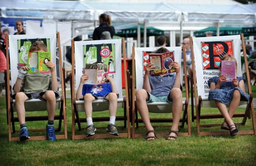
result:
M 162 54 L 148 54 L 149 62 L 154 64 L 155 69 L 150 71 L 151 75 L 160 75 L 175 72 L 175 68 L 172 68 L 170 64 L 174 62 L 174 51 L 170 51 Z

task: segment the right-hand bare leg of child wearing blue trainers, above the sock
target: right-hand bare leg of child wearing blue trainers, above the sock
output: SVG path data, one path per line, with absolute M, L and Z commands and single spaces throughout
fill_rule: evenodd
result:
M 53 121 L 56 109 L 56 97 L 52 90 L 47 90 L 42 96 L 46 100 L 46 108 L 48 111 L 48 120 Z

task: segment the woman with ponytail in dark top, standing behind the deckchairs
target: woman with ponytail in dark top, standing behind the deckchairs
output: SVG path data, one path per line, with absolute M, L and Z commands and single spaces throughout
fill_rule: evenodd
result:
M 108 14 L 101 14 L 99 17 L 100 25 L 94 29 L 92 39 L 112 39 L 115 35 L 115 28 L 111 26 L 111 17 Z

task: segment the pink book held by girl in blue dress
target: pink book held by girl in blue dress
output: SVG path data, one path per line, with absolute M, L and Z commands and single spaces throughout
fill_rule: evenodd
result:
M 236 78 L 236 61 L 221 61 L 221 75 L 226 76 L 226 82 Z

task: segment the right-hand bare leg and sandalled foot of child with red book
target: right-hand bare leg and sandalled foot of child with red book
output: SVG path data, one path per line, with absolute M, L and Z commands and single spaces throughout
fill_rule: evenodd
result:
M 173 88 L 170 93 L 170 98 L 172 98 L 172 127 L 171 130 L 178 131 L 180 123 L 180 115 L 182 113 L 182 92 L 179 88 Z M 170 133 L 170 136 L 176 136 L 175 133 Z M 174 138 L 168 138 L 174 139 Z

